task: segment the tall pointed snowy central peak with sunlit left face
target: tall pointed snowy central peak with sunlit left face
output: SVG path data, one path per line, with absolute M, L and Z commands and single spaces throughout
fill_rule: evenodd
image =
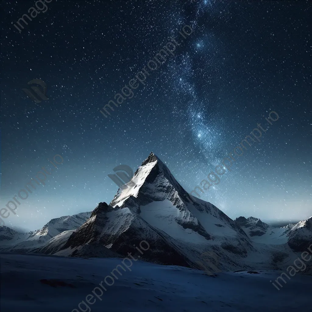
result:
M 87 256 L 89 248 L 105 246 L 126 256 L 145 240 L 150 244 L 142 255 L 146 261 L 198 268 L 202 253 L 213 251 L 222 259 L 220 268 L 251 268 L 243 259 L 256 249 L 241 227 L 211 203 L 195 201 L 155 154 L 130 182 L 69 237 L 62 246 L 66 255 Z

